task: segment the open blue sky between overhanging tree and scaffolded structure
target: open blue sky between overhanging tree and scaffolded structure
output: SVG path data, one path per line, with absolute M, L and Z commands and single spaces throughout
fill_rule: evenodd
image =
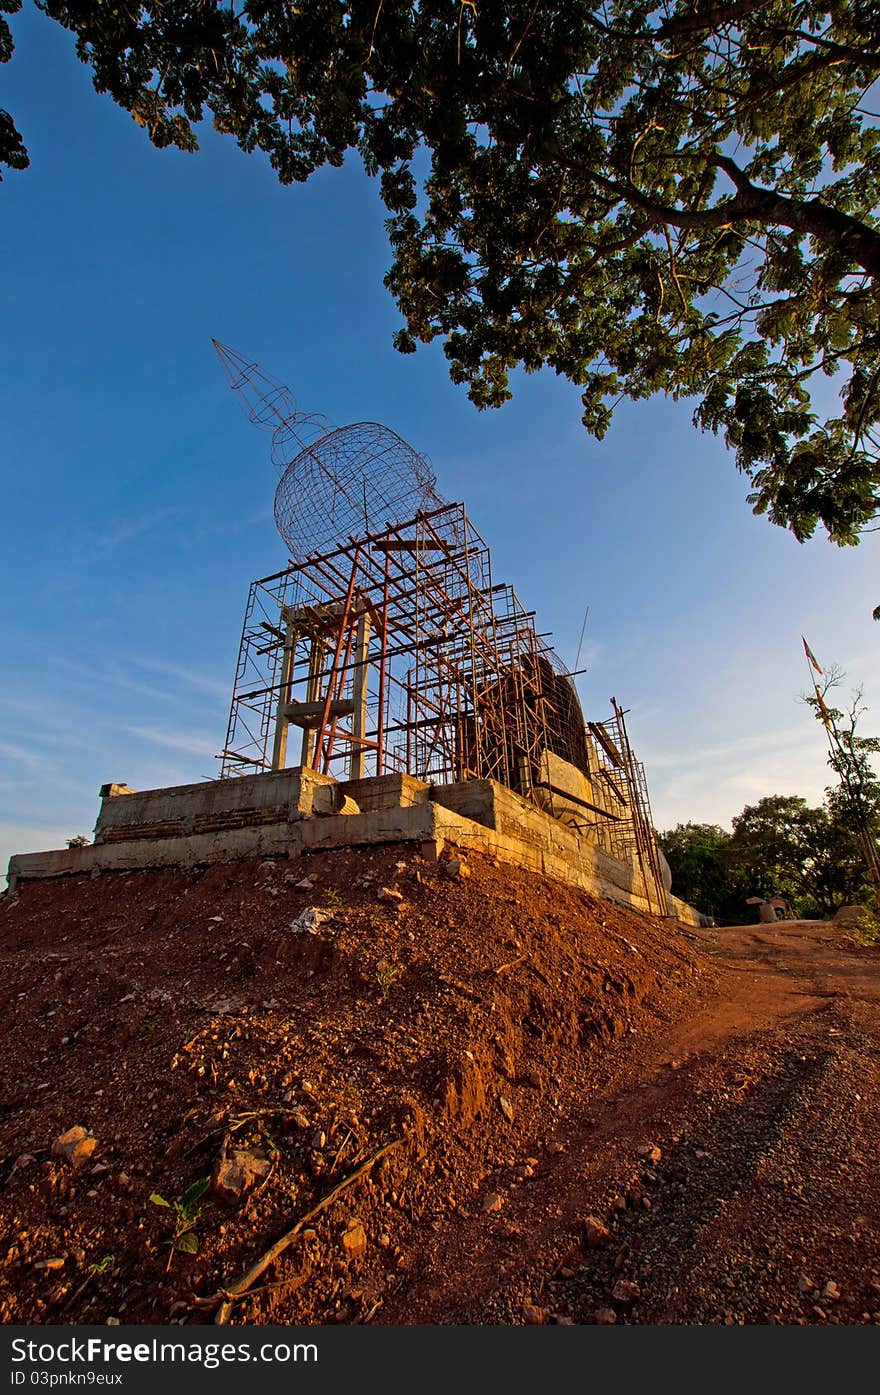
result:
M 390 347 L 357 162 L 280 188 L 211 133 L 153 151 L 70 35 L 32 8 L 11 24 L 3 103 L 32 165 L 0 187 L 0 866 L 91 833 L 105 781 L 216 773 L 247 587 L 285 551 L 266 437 L 212 336 L 304 409 L 425 453 L 569 663 L 590 607 L 584 710 L 630 709 L 660 827 L 821 797 L 799 636 L 865 684 L 876 730 L 876 536 L 799 545 L 756 519 L 689 403 L 625 405 L 601 445 L 549 374 L 477 413 L 438 346 Z

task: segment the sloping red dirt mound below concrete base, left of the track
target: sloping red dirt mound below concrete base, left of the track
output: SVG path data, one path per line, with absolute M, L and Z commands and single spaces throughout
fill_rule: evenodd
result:
M 0 965 L 6 1322 L 455 1321 L 477 1253 L 583 1250 L 570 1140 L 715 993 L 675 923 L 403 847 L 24 883 Z

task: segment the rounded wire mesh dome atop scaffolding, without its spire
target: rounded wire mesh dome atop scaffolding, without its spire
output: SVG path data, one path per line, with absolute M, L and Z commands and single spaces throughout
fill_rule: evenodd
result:
M 275 491 L 275 522 L 293 561 L 304 562 L 438 505 L 435 485 L 428 462 L 396 431 L 357 421 L 294 456 Z

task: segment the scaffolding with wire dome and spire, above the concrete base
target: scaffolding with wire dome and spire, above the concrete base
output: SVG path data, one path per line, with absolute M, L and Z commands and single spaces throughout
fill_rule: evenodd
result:
M 639 866 L 665 907 L 623 711 L 612 699 L 607 723 L 584 725 L 573 675 L 513 587 L 492 580 L 464 505 L 441 499 L 428 462 L 389 427 L 331 427 L 258 364 L 215 349 L 271 434 L 291 558 L 250 590 L 220 774 L 298 764 L 349 781 L 495 780 Z

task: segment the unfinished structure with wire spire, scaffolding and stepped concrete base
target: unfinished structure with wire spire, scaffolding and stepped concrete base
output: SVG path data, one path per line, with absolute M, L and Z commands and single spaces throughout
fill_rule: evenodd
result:
M 10 883 L 406 841 L 695 919 L 669 894 L 623 709 L 584 721 L 464 504 L 389 427 L 333 428 L 215 349 L 269 437 L 290 558 L 250 587 L 219 780 L 110 783 L 93 844 L 15 857 Z

